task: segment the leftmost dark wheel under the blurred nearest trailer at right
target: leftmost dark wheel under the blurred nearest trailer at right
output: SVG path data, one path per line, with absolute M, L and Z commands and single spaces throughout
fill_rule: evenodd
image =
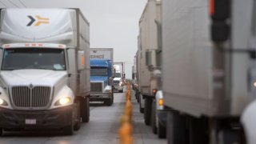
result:
M 172 110 L 167 116 L 167 143 L 186 144 L 186 118 Z

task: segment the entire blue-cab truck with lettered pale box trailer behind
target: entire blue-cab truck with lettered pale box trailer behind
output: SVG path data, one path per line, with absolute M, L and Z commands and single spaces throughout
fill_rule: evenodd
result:
M 90 102 L 104 102 L 111 106 L 113 93 L 113 49 L 90 49 Z

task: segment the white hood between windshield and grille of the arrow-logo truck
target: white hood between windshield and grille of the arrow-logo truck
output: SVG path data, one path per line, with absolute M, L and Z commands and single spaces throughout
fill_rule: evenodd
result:
M 12 70 L 1 71 L 0 76 L 8 86 L 54 86 L 67 80 L 66 71 L 54 70 Z

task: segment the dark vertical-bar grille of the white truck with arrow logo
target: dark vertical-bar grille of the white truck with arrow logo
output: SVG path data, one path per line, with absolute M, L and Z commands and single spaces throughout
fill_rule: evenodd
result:
M 42 108 L 50 102 L 50 87 L 14 86 L 11 89 L 14 106 L 20 108 Z

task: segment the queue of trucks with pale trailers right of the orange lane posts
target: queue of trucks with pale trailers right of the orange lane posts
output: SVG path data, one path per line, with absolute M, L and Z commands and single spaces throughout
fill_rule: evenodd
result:
M 256 1 L 148 0 L 133 86 L 170 144 L 256 143 Z

